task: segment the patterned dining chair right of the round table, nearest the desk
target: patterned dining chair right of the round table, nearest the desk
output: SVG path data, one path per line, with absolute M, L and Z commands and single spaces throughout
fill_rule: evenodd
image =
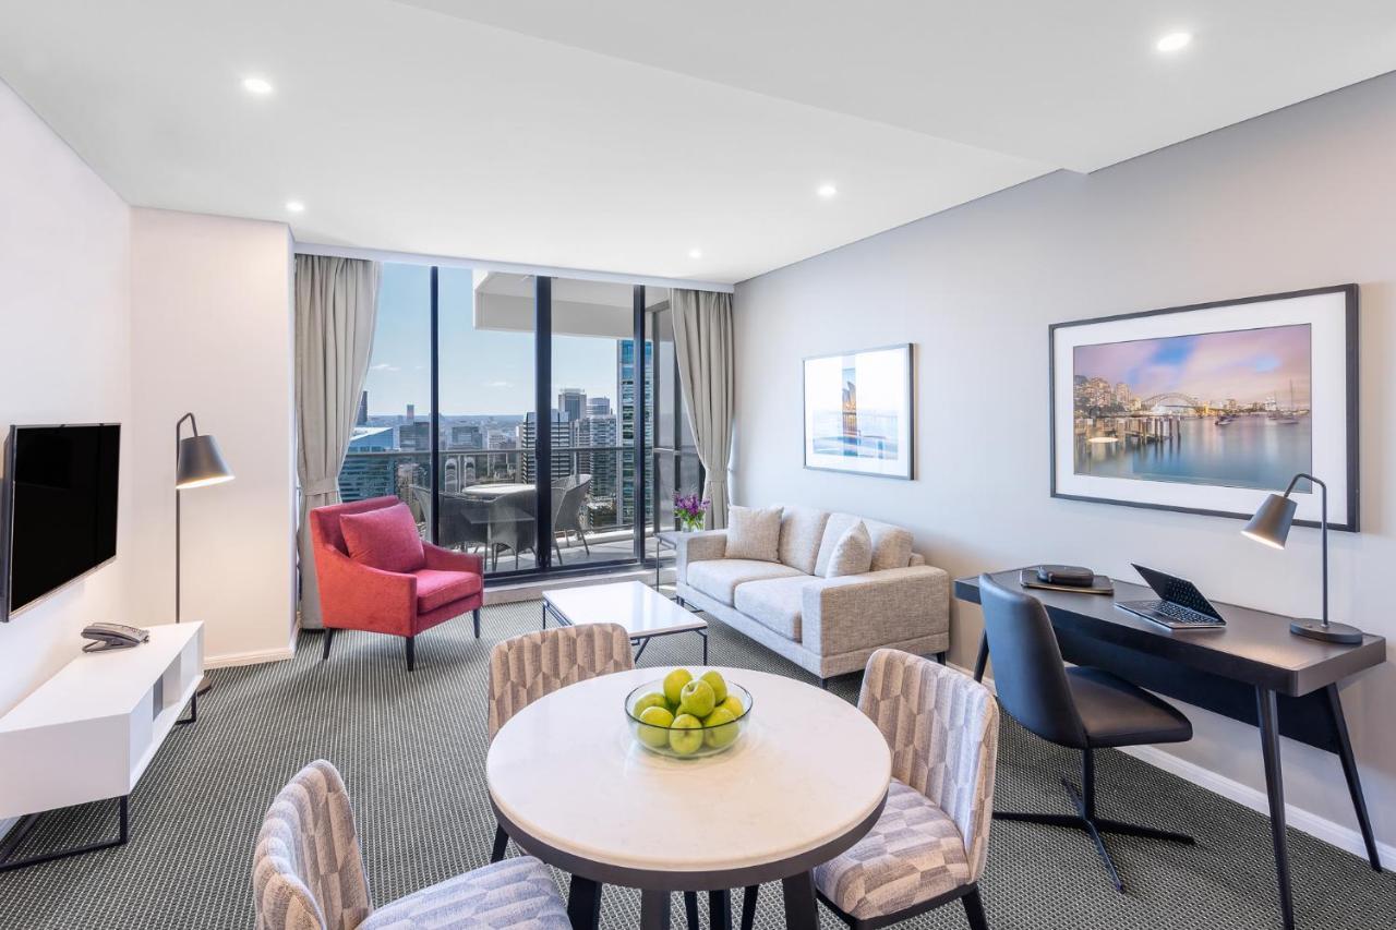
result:
M 867 836 L 814 870 L 819 899 L 854 930 L 959 901 L 987 930 L 998 702 L 967 674 L 899 649 L 868 658 L 859 708 L 892 750 L 886 807 Z

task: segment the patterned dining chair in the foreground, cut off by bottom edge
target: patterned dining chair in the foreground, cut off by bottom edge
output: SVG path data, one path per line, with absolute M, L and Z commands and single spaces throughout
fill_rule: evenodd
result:
M 272 802 L 253 859 L 257 930 L 570 930 L 553 874 L 519 856 L 374 909 L 339 771 L 315 760 Z

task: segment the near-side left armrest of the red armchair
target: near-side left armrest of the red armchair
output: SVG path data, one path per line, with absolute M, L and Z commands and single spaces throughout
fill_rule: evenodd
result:
M 320 609 L 327 627 L 405 637 L 417 613 L 417 580 L 357 563 L 336 549 L 315 550 Z

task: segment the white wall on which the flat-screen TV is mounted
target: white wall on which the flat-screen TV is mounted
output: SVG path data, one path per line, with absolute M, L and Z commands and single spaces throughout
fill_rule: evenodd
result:
M 126 202 L 0 82 L 0 429 L 119 422 L 117 559 L 0 624 L 0 714 L 127 621 L 133 473 Z M 0 466 L 3 468 L 3 466 Z

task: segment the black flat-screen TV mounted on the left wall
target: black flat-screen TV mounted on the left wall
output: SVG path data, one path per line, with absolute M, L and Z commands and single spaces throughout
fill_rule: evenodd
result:
M 0 620 L 116 557 L 120 450 L 116 423 L 10 427 Z

